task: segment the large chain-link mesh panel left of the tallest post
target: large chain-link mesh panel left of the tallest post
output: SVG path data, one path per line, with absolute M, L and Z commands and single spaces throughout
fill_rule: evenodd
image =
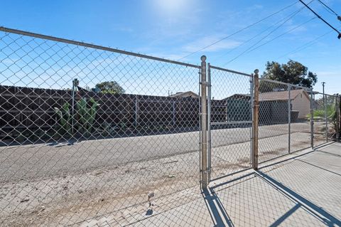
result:
M 200 67 L 2 31 L 0 50 L 1 226 L 124 226 L 197 199 Z

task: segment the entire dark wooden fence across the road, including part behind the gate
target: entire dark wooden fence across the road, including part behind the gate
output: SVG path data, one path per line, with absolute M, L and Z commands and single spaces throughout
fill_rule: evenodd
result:
M 199 129 L 200 100 L 197 97 L 113 95 L 80 90 L 75 93 L 75 102 L 81 98 L 93 98 L 99 104 L 93 125 L 93 131 L 99 131 L 97 137 L 166 134 Z M 72 90 L 0 85 L 1 139 L 21 142 L 19 140 L 28 138 L 32 142 L 63 137 L 58 137 L 60 117 L 55 108 L 62 108 L 65 102 L 72 106 Z M 212 122 L 243 120 L 249 114 L 249 101 L 212 100 Z M 105 127 L 111 127 L 111 132 L 104 132 Z M 92 137 L 95 134 L 92 133 Z

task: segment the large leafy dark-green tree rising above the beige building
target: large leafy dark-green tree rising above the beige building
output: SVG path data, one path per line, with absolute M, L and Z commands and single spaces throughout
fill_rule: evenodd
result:
M 293 85 L 312 88 L 318 82 L 318 75 L 308 71 L 308 68 L 295 60 L 289 60 L 286 64 L 280 64 L 275 61 L 266 63 L 266 71 L 261 78 L 269 80 L 278 80 Z M 266 83 L 261 83 L 262 92 L 269 92 L 275 88 L 270 88 Z

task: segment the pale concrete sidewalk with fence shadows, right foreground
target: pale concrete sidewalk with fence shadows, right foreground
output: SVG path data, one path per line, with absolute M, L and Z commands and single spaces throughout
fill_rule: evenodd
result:
M 212 182 L 197 199 L 131 226 L 341 226 L 340 191 L 341 144 L 332 143 Z M 126 226 L 94 226 L 106 224 Z

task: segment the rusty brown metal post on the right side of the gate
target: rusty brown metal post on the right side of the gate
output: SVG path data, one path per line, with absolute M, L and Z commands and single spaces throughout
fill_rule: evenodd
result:
M 252 168 L 258 169 L 259 70 L 254 70 L 254 108 L 252 115 Z

